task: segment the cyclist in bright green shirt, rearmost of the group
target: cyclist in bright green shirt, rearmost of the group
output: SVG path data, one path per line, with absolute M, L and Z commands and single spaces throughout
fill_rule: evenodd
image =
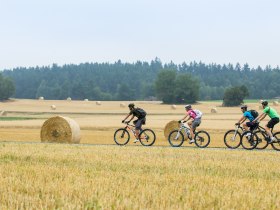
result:
M 254 120 L 254 122 L 257 122 L 258 120 L 259 121 L 263 120 L 266 117 L 266 115 L 268 115 L 271 118 L 270 121 L 267 123 L 267 125 L 264 128 L 265 128 L 266 133 L 270 137 L 270 142 L 269 143 L 272 143 L 272 142 L 275 141 L 275 138 L 273 137 L 270 129 L 273 128 L 274 125 L 279 123 L 279 115 L 278 115 L 278 113 L 276 112 L 275 109 L 268 106 L 267 101 L 262 101 L 262 107 L 263 107 L 263 113 L 260 116 L 258 116 Z

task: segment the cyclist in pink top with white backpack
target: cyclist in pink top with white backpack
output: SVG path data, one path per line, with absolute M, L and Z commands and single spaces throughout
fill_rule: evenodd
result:
M 194 143 L 194 131 L 196 129 L 197 126 L 200 125 L 201 123 L 201 115 L 202 113 L 199 110 L 196 110 L 196 112 L 192 109 L 192 106 L 190 104 L 185 106 L 185 109 L 187 111 L 186 115 L 184 116 L 184 118 L 182 120 L 179 120 L 178 122 L 181 123 L 182 121 L 184 121 L 184 119 L 186 119 L 188 117 L 188 119 L 186 121 L 188 122 L 188 125 L 190 127 L 190 133 L 191 133 L 191 137 L 192 139 L 190 140 L 190 144 Z

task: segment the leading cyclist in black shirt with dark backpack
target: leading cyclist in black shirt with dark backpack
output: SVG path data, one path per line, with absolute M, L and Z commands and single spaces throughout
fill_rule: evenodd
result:
M 142 130 L 142 125 L 145 125 L 146 123 L 146 115 L 147 113 L 141 109 L 141 108 L 135 108 L 135 105 L 133 103 L 128 105 L 128 108 L 130 110 L 129 114 L 124 118 L 122 123 L 125 122 L 125 120 L 131 116 L 130 120 L 127 121 L 129 123 L 134 117 L 137 117 L 137 120 L 134 120 L 133 123 L 135 125 L 135 137 L 136 139 L 134 140 L 134 143 L 139 141 L 139 133 Z

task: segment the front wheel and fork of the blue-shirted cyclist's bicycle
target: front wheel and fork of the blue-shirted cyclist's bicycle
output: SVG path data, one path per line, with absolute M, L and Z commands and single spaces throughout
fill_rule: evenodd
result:
M 240 125 L 236 125 L 235 130 L 228 130 L 224 135 L 225 145 L 230 149 L 238 148 L 241 145 L 241 134 L 243 132 L 244 130 Z

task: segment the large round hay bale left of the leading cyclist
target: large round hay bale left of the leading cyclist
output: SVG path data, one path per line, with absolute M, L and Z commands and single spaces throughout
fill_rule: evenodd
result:
M 41 128 L 41 142 L 78 144 L 80 140 L 80 126 L 68 117 L 49 118 Z

